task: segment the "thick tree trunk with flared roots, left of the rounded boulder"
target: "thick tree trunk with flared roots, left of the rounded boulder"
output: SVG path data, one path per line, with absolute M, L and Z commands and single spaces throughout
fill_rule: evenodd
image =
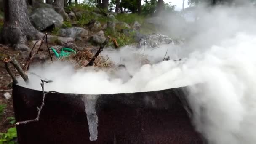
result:
M 5 19 L 1 40 L 15 49 L 29 50 L 24 43 L 28 39 L 39 39 L 42 33 L 29 20 L 26 0 L 3 0 L 3 5 Z

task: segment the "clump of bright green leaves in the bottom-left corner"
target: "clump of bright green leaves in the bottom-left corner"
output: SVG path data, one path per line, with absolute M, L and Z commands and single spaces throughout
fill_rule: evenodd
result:
M 17 138 L 16 127 L 9 128 L 6 133 L 0 133 L 0 144 L 15 144 L 12 141 L 14 138 Z

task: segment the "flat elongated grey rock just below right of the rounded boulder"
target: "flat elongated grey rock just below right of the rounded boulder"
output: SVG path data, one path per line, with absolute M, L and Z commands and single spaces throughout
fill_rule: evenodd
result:
M 72 37 L 76 39 L 77 37 L 86 37 L 88 35 L 88 31 L 82 27 L 71 27 L 60 29 L 59 35 L 62 37 Z

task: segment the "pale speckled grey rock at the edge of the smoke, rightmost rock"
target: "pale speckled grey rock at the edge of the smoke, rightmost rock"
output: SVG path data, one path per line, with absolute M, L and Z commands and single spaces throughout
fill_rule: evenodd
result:
M 148 35 L 146 38 L 141 39 L 140 43 L 145 43 L 151 48 L 158 47 L 161 44 L 174 44 L 170 37 L 161 34 Z

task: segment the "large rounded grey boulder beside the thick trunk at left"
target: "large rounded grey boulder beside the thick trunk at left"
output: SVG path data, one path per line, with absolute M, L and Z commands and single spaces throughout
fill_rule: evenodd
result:
M 54 27 L 61 27 L 63 24 L 63 17 L 52 8 L 35 9 L 30 15 L 30 20 L 34 27 L 40 31 L 53 25 Z

